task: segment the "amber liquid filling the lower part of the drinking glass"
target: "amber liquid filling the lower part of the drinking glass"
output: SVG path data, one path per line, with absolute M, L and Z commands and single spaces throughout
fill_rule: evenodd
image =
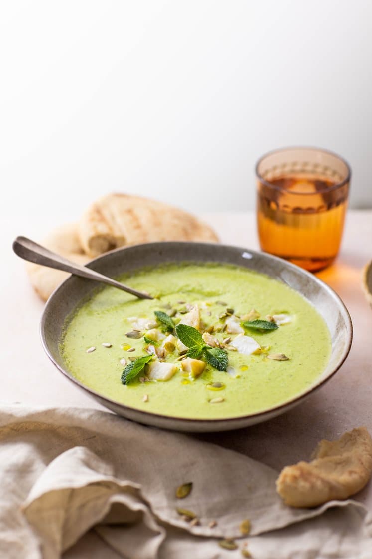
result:
M 258 183 L 262 249 L 311 271 L 328 266 L 339 250 L 347 185 L 332 189 L 330 177 L 296 173 L 269 183 Z

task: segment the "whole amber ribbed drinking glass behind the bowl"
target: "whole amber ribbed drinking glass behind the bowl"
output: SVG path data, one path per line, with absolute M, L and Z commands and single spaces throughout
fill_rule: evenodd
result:
M 339 251 L 350 168 L 316 148 L 285 148 L 259 159 L 257 219 L 260 245 L 312 272 Z

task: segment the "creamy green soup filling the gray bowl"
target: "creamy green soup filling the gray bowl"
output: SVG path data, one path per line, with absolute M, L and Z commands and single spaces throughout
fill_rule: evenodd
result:
M 157 299 L 138 300 L 112 287 L 103 288 L 75 312 L 60 350 L 77 380 L 131 408 L 194 419 L 258 413 L 305 392 L 330 357 L 330 333 L 318 312 L 297 292 L 264 274 L 226 264 L 185 263 L 143 269 L 119 279 Z M 185 348 L 182 352 L 179 342 L 178 349 L 163 350 L 170 332 L 161 333 L 163 326 L 154 311 L 170 315 L 177 325 L 190 316 L 190 309 L 199 313 L 200 333 L 208 330 L 226 351 L 227 371 L 207 363 L 194 378 L 181 368 Z M 242 328 L 244 320 L 257 318 L 276 321 L 278 327 Z M 231 329 L 238 331 L 229 333 Z M 158 333 L 156 343 L 147 338 L 148 330 L 152 337 L 154 331 Z M 233 345 L 238 337 L 257 342 L 259 349 L 241 353 L 240 345 L 238 350 Z M 123 359 L 129 364 L 154 348 L 161 354 L 160 361 L 176 364 L 172 378 L 148 380 L 145 369 L 123 385 Z

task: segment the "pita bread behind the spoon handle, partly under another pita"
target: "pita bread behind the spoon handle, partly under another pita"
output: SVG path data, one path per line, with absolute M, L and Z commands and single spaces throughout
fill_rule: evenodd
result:
M 81 248 L 76 224 L 59 227 L 52 231 L 41 244 L 78 264 L 85 264 L 90 259 Z M 26 266 L 31 285 L 43 301 L 46 301 L 55 288 L 70 275 L 67 272 L 39 266 L 33 262 L 28 262 Z

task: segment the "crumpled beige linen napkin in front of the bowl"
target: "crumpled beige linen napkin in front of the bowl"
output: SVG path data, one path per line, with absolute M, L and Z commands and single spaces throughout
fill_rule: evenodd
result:
M 0 557 L 241 557 L 218 546 L 222 537 L 248 542 L 256 559 L 371 556 L 363 505 L 288 508 L 277 475 L 233 451 L 110 413 L 3 405 Z M 177 500 L 176 487 L 189 481 L 191 494 Z M 177 506 L 200 525 L 182 520 Z M 247 518 L 252 532 L 241 538 Z

